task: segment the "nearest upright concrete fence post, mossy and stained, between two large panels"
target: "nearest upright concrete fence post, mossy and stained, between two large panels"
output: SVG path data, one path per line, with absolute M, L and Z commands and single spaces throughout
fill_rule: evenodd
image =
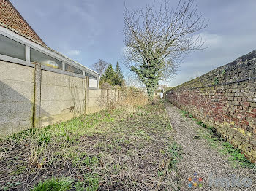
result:
M 41 81 L 42 70 L 40 63 L 34 63 L 34 103 L 33 103 L 33 127 L 39 128 L 41 110 Z

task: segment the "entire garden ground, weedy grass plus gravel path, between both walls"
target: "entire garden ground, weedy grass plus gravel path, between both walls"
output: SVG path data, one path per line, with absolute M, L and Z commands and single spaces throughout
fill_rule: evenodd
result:
M 253 168 L 211 128 L 164 101 L 0 140 L 0 190 L 255 190 Z M 233 187 L 233 176 L 252 185 Z

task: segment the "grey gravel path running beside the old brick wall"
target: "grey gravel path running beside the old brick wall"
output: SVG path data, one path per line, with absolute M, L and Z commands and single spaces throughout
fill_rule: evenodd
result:
M 184 157 L 178 164 L 181 190 L 256 190 L 255 171 L 233 168 L 227 156 L 212 148 L 206 139 L 195 139 L 206 128 L 182 116 L 181 110 L 172 104 L 165 103 L 165 108 L 176 131 L 175 140 L 184 149 Z M 197 179 L 196 187 L 189 187 L 189 177 Z M 199 182 L 199 177 L 203 181 Z M 202 187 L 198 187 L 199 183 Z

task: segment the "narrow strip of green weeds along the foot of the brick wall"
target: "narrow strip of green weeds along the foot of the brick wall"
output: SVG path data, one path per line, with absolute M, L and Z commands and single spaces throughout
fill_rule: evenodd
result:
M 208 127 L 206 124 L 201 122 L 200 120 L 197 120 L 192 116 L 192 114 L 189 114 L 189 112 L 181 111 L 181 114 L 184 117 L 192 118 L 193 121 L 197 123 L 197 125 L 202 126 L 203 128 L 207 128 L 207 133 L 200 133 L 200 136 L 205 138 L 212 147 L 218 148 L 219 152 L 222 152 L 224 154 L 229 155 L 228 159 L 230 160 L 230 163 L 237 167 L 241 166 L 244 168 L 254 168 L 255 164 L 251 163 L 247 158 L 244 156 L 244 154 L 241 152 L 240 149 L 234 148 L 229 142 L 225 141 L 225 139 L 222 139 L 222 136 L 217 132 L 216 128 L 214 127 Z M 199 136 L 195 139 L 199 139 Z

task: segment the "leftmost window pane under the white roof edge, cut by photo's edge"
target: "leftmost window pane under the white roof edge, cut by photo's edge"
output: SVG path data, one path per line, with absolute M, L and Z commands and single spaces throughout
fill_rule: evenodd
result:
M 25 45 L 0 34 L 0 54 L 26 60 Z

